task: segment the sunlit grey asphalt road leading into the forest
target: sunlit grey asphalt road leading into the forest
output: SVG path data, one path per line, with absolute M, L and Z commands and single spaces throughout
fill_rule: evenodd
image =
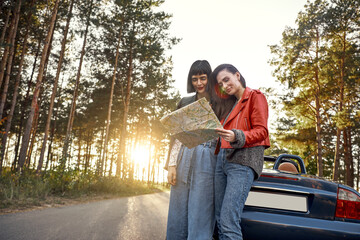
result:
M 165 239 L 168 206 L 163 192 L 0 215 L 0 239 Z

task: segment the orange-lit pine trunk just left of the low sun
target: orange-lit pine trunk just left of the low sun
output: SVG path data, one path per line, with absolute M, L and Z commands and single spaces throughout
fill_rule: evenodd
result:
M 125 143 L 126 143 L 126 127 L 127 127 L 127 118 L 129 113 L 130 106 L 130 97 L 131 97 L 131 79 L 133 71 L 133 39 L 130 40 L 129 46 L 129 66 L 127 71 L 127 86 L 126 86 L 126 96 L 124 101 L 124 116 L 123 116 L 123 125 L 120 133 L 120 153 L 116 167 L 116 176 L 120 177 L 121 173 L 121 164 L 125 165 Z M 123 174 L 124 175 L 124 174 Z

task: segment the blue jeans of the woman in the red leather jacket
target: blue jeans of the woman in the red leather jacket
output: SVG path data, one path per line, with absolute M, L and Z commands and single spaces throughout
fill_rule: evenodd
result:
M 247 166 L 230 163 L 221 149 L 215 170 L 215 217 L 219 238 L 241 240 L 241 215 L 251 185 L 254 171 Z

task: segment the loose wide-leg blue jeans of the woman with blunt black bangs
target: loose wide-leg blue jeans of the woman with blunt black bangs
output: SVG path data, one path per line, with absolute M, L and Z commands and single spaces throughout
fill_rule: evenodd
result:
M 205 145 L 205 146 L 204 146 Z M 171 186 L 166 239 L 209 240 L 215 227 L 215 144 L 182 147 Z

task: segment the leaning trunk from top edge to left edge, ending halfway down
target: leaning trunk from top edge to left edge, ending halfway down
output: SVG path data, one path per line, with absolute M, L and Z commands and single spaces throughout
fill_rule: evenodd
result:
M 9 81 L 10 81 L 10 74 L 12 70 L 12 62 L 15 56 L 15 40 L 16 40 L 16 34 L 17 34 L 17 28 L 19 25 L 19 19 L 20 19 L 20 8 L 21 8 L 21 0 L 19 0 L 18 5 L 16 7 L 15 11 L 15 25 L 14 30 L 12 31 L 11 37 L 10 37 L 10 52 L 9 52 L 9 59 L 7 61 L 6 71 L 5 71 L 5 81 L 4 81 L 4 87 L 3 87 L 3 93 L 1 95 L 0 100 L 0 119 L 2 119 L 4 106 L 6 102 L 8 87 L 9 87 Z

